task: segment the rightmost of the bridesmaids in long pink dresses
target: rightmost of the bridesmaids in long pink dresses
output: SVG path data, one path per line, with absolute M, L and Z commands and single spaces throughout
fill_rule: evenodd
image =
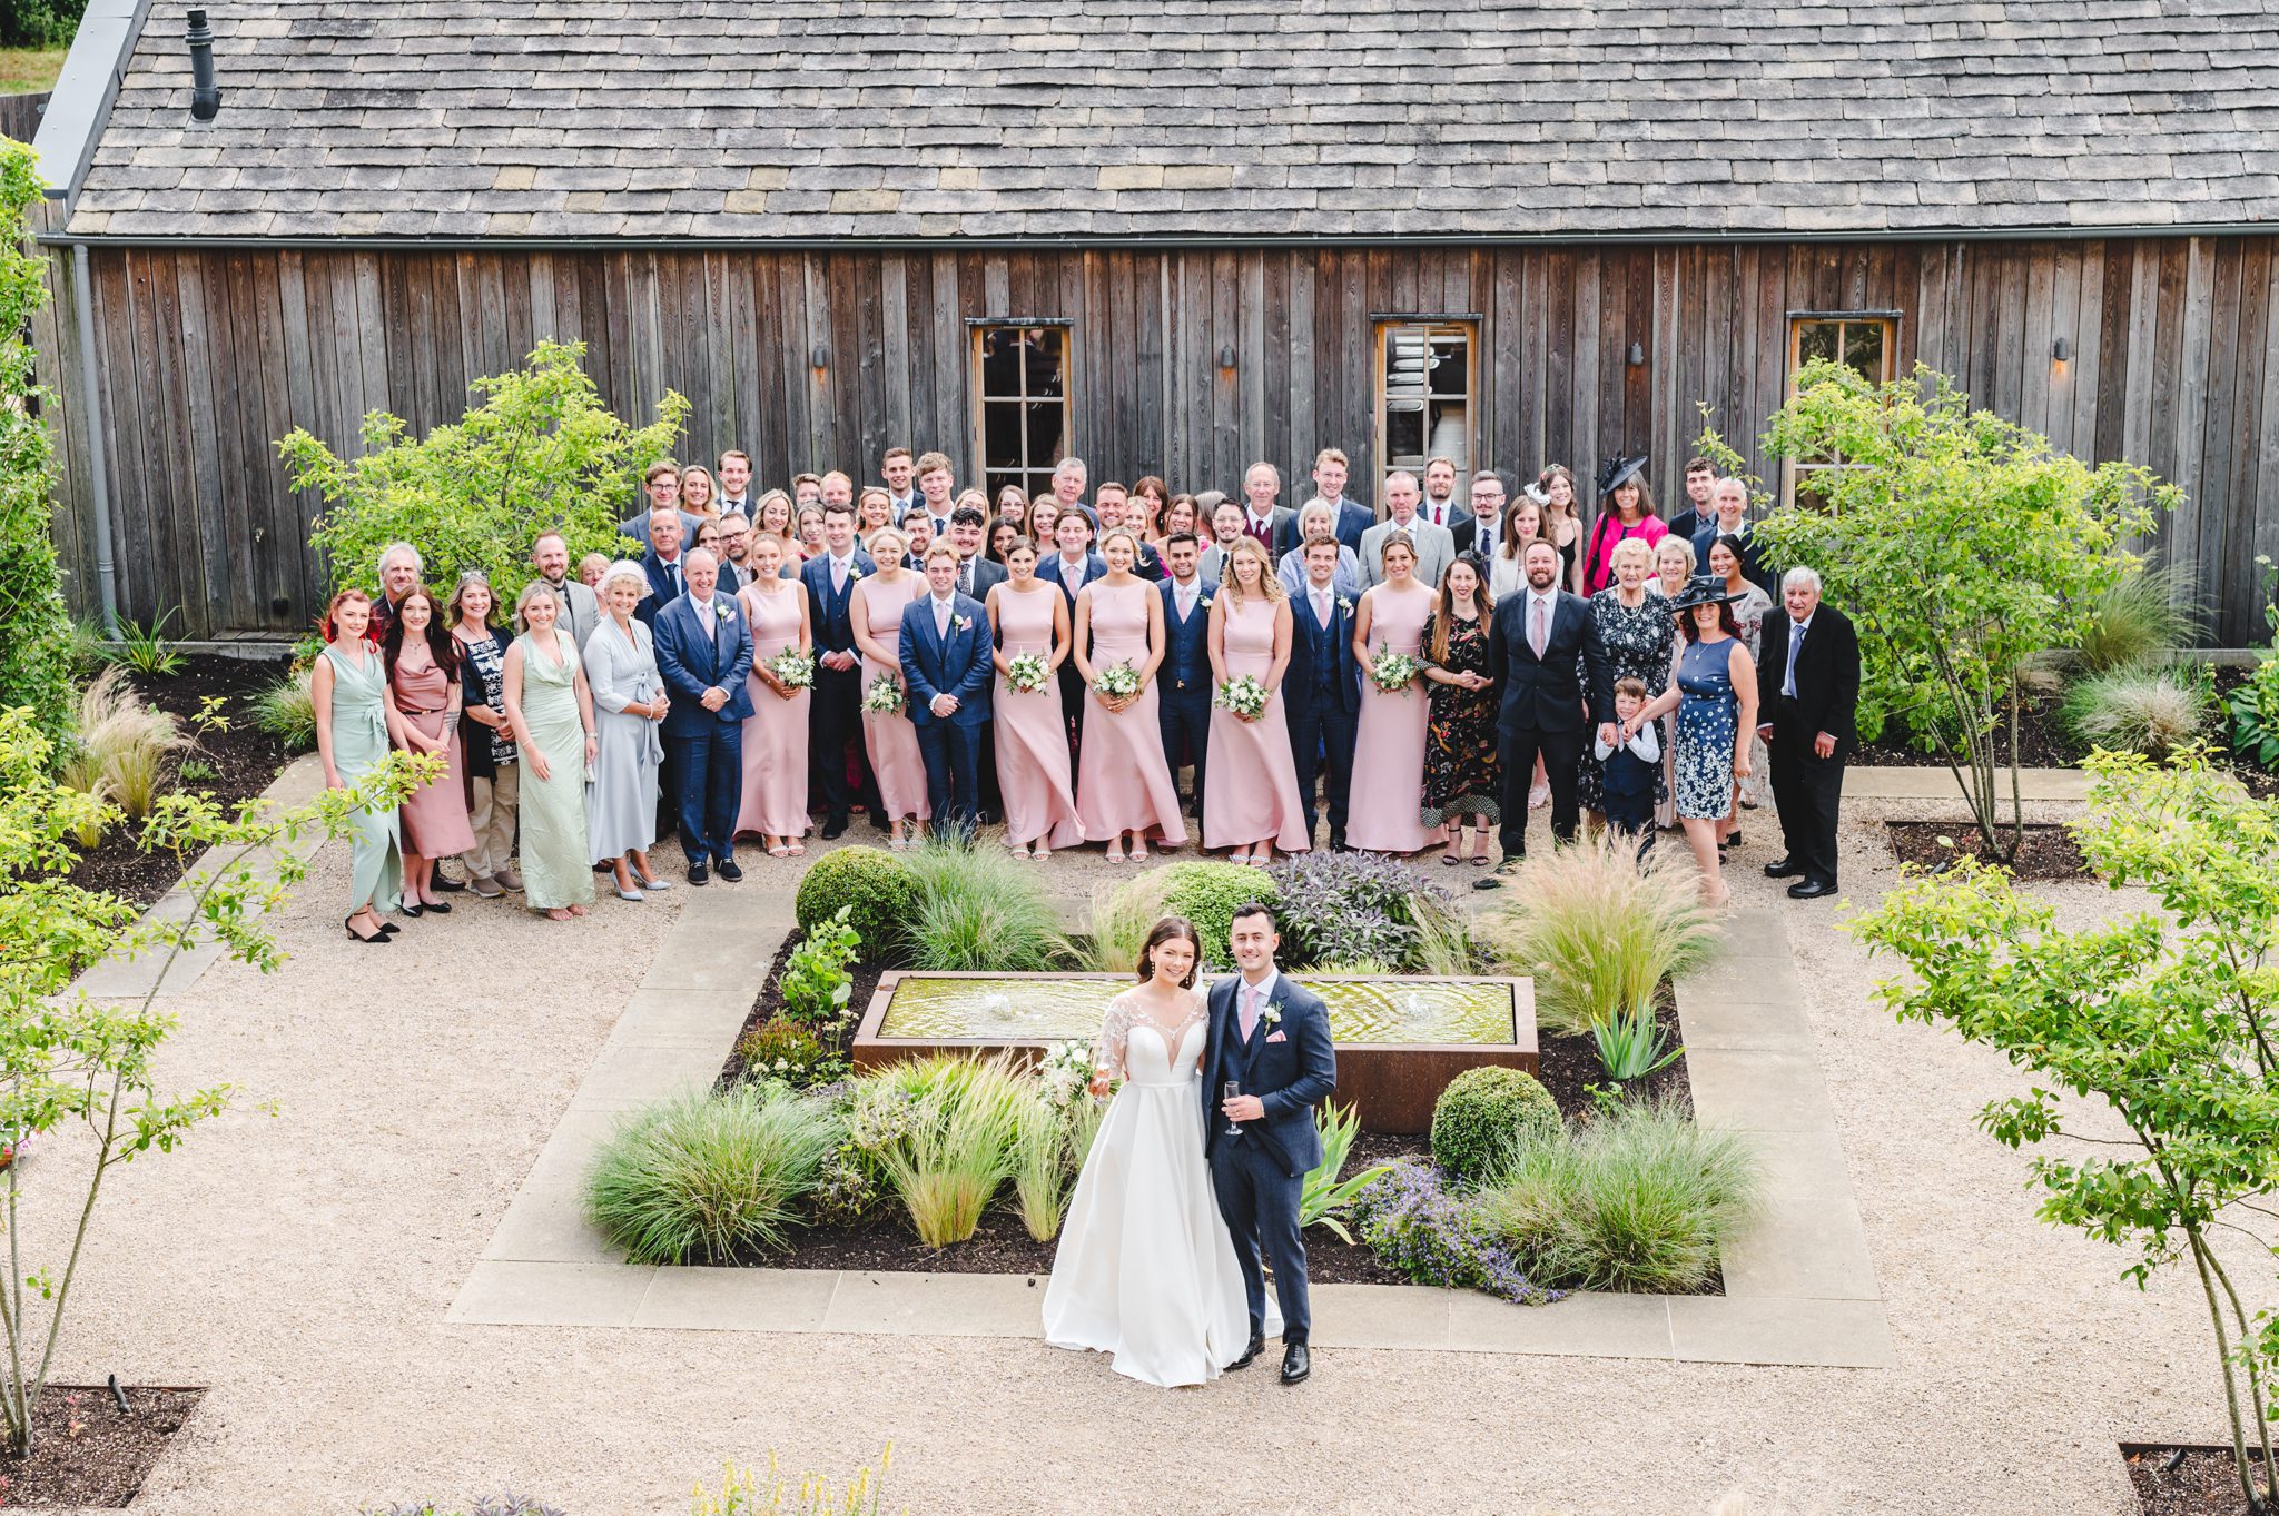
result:
M 1372 854 L 1413 854 L 1447 835 L 1427 829 L 1424 808 L 1424 738 L 1431 701 L 1424 681 L 1383 692 L 1370 676 L 1370 660 L 1392 649 L 1415 658 L 1424 649 L 1424 621 L 1438 596 L 1415 578 L 1415 546 L 1408 533 L 1386 537 L 1386 583 L 1361 596 L 1354 612 L 1354 658 L 1361 660 L 1361 735 L 1354 742 L 1354 774 L 1367 783 L 1354 785 L 1351 819 L 1345 840 Z

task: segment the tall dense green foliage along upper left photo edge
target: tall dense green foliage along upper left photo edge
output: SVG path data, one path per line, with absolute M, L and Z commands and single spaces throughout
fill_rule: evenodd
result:
M 55 453 L 32 382 L 32 312 L 48 303 L 25 212 L 39 203 L 36 159 L 0 139 L 0 706 L 27 706 L 50 751 L 71 735 L 71 612 L 55 562 Z

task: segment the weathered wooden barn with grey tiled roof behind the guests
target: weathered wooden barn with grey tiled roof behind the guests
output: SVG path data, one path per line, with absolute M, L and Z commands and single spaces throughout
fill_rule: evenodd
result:
M 2279 555 L 2265 0 L 93 0 L 39 137 L 80 603 L 289 633 L 276 439 L 581 339 L 761 483 L 1299 487 L 1315 448 L 1584 478 L 1803 355 L 1917 362 Z M 1023 362 L 1012 362 L 1012 353 Z M 1794 480 L 1766 460 L 1782 489 Z M 1935 551 L 1937 544 L 1926 544 Z

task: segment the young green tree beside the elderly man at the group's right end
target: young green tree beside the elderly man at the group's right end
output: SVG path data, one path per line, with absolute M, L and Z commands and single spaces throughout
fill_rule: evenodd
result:
M 1873 385 L 1814 360 L 1764 444 L 1789 460 L 1837 460 L 1812 473 L 1816 508 L 1773 512 L 1757 530 L 1775 562 L 1819 569 L 1830 603 L 1857 624 L 1862 735 L 1905 722 L 1946 760 L 1985 851 L 2015 858 L 2026 824 L 2019 662 L 2081 644 L 2094 596 L 2140 565 L 2126 542 L 2181 492 L 2135 464 L 2092 469 L 2056 453 L 1971 410 L 1930 369 Z

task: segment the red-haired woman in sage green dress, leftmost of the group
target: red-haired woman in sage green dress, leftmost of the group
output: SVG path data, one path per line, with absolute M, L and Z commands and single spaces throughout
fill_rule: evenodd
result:
M 381 653 L 365 640 L 371 628 L 371 596 L 342 590 L 324 612 L 328 642 L 317 656 L 308 687 L 317 708 L 317 756 L 324 783 L 346 790 L 387 760 L 387 674 Z M 397 844 L 397 808 L 358 810 L 349 833 L 349 915 L 342 926 L 358 942 L 385 942 L 397 933 L 383 911 L 397 908 L 403 888 L 403 854 Z

